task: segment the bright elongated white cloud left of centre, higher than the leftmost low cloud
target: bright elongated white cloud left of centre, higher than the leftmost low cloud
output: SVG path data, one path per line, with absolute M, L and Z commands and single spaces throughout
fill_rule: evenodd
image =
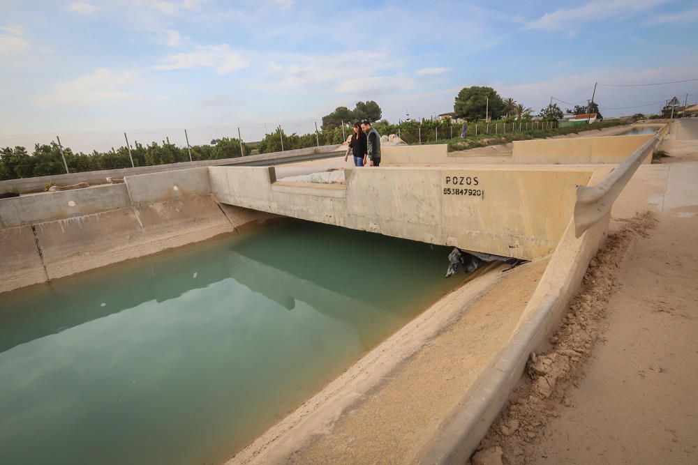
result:
M 193 52 L 171 54 L 156 70 L 183 70 L 189 68 L 214 68 L 220 74 L 248 68 L 251 62 L 241 52 L 228 45 L 200 45 Z

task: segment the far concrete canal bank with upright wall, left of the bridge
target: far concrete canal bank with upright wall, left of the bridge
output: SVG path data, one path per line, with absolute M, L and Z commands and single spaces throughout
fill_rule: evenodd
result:
M 206 167 L 0 199 L 0 292 L 204 241 L 271 217 L 219 205 Z

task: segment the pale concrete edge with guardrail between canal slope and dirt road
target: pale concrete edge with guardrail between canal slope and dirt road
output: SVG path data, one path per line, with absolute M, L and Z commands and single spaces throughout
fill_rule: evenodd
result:
M 611 206 L 628 181 L 660 142 L 655 135 L 611 171 L 597 170 L 591 187 L 577 188 L 574 218 L 565 229 L 555 253 L 510 343 L 496 356 L 479 385 L 443 422 L 424 448 L 421 463 L 466 463 L 507 398 L 521 379 L 531 353 L 540 351 L 560 324 L 570 300 L 594 254 L 607 237 Z

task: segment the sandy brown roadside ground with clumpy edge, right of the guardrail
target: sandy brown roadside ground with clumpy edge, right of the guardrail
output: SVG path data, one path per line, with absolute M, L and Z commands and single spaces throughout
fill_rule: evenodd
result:
M 551 348 L 473 462 L 698 463 L 695 139 L 698 121 L 676 124 L 669 165 L 632 178 Z

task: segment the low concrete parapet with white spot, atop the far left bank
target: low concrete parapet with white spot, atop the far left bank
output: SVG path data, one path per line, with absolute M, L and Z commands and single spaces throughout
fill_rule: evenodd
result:
M 0 228 L 72 218 L 131 205 L 124 184 L 0 199 Z

